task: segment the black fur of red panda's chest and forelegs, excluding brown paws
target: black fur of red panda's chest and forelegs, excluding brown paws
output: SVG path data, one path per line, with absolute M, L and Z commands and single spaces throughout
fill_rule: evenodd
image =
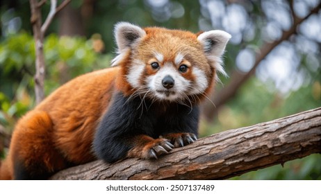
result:
M 98 158 L 117 161 L 138 144 L 138 136 L 158 139 L 173 133 L 197 136 L 199 107 L 149 99 L 129 98 L 116 93 L 102 116 L 93 141 Z M 149 140 L 150 141 L 150 140 Z

